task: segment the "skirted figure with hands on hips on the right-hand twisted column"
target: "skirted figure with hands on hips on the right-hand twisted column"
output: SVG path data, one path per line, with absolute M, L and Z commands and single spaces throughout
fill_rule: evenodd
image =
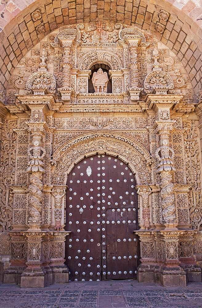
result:
M 176 169 L 173 164 L 174 155 L 173 149 L 168 147 L 168 140 L 162 140 L 160 148 L 156 150 L 156 158 L 159 160 L 157 172 L 175 171 Z

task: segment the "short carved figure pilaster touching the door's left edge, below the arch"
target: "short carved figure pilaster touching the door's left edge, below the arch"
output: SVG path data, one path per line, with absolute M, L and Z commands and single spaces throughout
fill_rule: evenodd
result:
M 54 186 L 52 188 L 52 211 L 51 211 L 51 225 L 55 230 L 64 229 L 65 226 L 65 200 L 67 186 Z

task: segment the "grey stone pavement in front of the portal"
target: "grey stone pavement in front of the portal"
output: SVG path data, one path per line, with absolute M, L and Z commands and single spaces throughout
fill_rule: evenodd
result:
M 202 308 L 202 283 L 165 288 L 136 280 L 21 289 L 0 284 L 1 308 Z

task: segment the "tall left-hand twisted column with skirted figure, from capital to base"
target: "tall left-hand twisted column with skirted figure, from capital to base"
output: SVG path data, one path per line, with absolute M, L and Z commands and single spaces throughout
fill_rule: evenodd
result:
M 32 134 L 32 147 L 28 149 L 30 160 L 27 167 L 27 172 L 30 173 L 28 223 L 30 224 L 30 230 L 38 230 L 42 212 L 42 176 L 45 173 L 43 157 L 46 151 L 41 147 L 42 136 L 44 135 L 43 127 L 35 127 L 31 124 L 29 126 Z

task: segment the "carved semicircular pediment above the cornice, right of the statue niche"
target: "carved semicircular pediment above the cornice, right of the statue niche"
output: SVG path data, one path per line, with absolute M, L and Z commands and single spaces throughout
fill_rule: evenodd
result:
M 151 93 L 154 90 L 171 90 L 173 88 L 173 80 L 165 71 L 152 71 L 144 80 L 144 91 L 146 93 Z

